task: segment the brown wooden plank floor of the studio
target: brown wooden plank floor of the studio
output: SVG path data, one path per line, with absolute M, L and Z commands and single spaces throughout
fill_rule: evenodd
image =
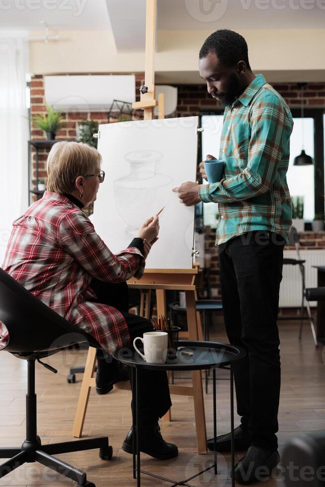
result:
M 302 431 L 325 430 L 325 348 L 316 350 L 308 325 L 303 339 L 298 340 L 298 324 L 280 322 L 282 386 L 279 410 L 279 450 L 292 436 Z M 223 327 L 211 339 L 227 341 Z M 71 440 L 71 431 L 81 385 L 81 375 L 76 384 L 67 383 L 71 365 L 82 365 L 85 352 L 56 354 L 48 362 L 59 369 L 54 375 L 36 364 L 36 388 L 38 399 L 38 434 L 43 443 Z M 227 379 L 227 371 L 218 376 Z M 186 384 L 185 378 L 176 378 L 176 383 Z M 0 352 L 0 446 L 18 446 L 25 437 L 25 392 L 26 362 L 9 353 Z M 230 430 L 229 381 L 217 382 L 218 434 Z M 114 453 L 111 461 L 102 461 L 97 451 L 60 455 L 72 465 L 84 469 L 88 481 L 96 487 L 136 486 L 132 478 L 132 456 L 121 450 L 123 439 L 131 424 L 130 392 L 113 391 L 106 396 L 90 395 L 84 426 L 84 437 L 108 435 Z M 179 455 L 171 461 L 160 462 L 142 455 L 142 468 L 158 475 L 183 480 L 203 469 L 211 461 L 212 454 L 196 453 L 193 400 L 172 397 L 172 422 L 161 421 L 163 437 L 177 444 Z M 212 436 L 212 384 L 205 397 L 208 437 Z M 235 415 L 235 425 L 238 416 Z M 236 455 L 236 460 L 242 454 Z M 218 455 L 220 474 L 211 473 L 190 482 L 193 486 L 229 485 L 229 455 Z M 279 485 L 278 479 L 263 483 L 264 486 Z M 0 480 L 0 486 L 72 486 L 64 479 L 38 464 L 27 464 Z M 170 484 L 147 476 L 142 477 L 143 486 L 168 486 Z

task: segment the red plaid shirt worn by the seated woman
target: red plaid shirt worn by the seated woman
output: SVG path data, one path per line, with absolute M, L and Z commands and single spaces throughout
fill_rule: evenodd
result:
M 107 352 L 130 345 L 123 315 L 93 301 L 90 281 L 139 279 L 145 259 L 135 247 L 114 255 L 65 196 L 46 191 L 13 222 L 2 267 L 49 308 L 90 333 Z M 7 340 L 0 322 L 0 347 Z

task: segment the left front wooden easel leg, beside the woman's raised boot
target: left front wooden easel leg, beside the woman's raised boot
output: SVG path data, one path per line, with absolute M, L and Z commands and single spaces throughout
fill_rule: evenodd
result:
M 96 365 L 96 348 L 89 347 L 84 374 L 82 378 L 80 396 L 75 416 L 74 428 L 72 430 L 73 436 L 80 438 L 82 435 L 84 418 L 87 412 L 91 379 Z

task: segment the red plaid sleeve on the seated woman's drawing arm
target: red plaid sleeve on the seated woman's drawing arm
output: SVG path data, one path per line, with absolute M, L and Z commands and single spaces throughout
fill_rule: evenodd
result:
M 81 211 L 62 219 L 59 243 L 92 277 L 101 281 L 117 283 L 143 275 L 145 259 L 141 251 L 134 246 L 114 254 Z

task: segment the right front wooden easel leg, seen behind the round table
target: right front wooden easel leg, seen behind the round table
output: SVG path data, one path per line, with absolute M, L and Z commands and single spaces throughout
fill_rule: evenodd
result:
M 198 340 L 199 337 L 198 337 L 198 327 L 196 321 L 195 293 L 193 291 L 185 291 L 185 297 L 186 297 L 188 336 L 190 340 Z M 201 371 L 192 372 L 192 382 L 193 382 L 193 398 L 194 398 L 197 448 L 199 453 L 203 453 L 207 450 L 207 432 L 206 432 L 206 424 L 205 424 L 205 410 L 204 410 Z

